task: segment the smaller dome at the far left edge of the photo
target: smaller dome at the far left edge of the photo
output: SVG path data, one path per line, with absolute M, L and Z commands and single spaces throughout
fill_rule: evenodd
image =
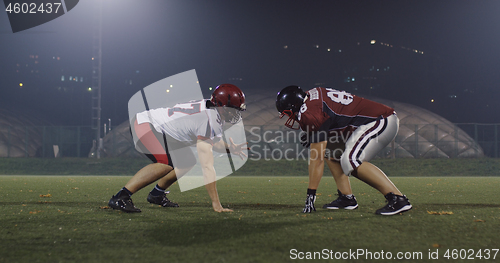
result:
M 0 109 L 0 157 L 35 157 L 42 148 L 42 123 L 28 114 Z

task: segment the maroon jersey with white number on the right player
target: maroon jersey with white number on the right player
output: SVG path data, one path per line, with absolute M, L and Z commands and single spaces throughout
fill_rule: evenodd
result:
M 394 113 L 391 107 L 345 91 L 314 88 L 307 94 L 309 96 L 298 114 L 303 131 L 355 130 L 360 125 Z

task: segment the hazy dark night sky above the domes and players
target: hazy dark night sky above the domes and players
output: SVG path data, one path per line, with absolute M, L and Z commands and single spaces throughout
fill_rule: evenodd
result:
M 86 89 L 97 3 L 82 0 L 62 17 L 15 34 L 7 13 L 0 12 L 0 107 L 32 110 L 56 124 L 90 124 Z M 206 91 L 229 82 L 247 94 L 272 95 L 287 85 L 309 89 L 320 83 L 412 103 L 456 123 L 500 122 L 497 0 L 106 0 L 102 5 L 102 115 L 115 123 L 126 120 L 128 99 L 140 88 L 190 69 Z M 35 60 L 30 55 L 39 56 L 38 75 L 26 69 Z M 345 83 L 352 69 L 357 78 L 374 76 L 370 64 L 391 67 L 380 86 L 371 91 L 365 84 L 354 89 Z M 70 75 L 84 80 L 67 84 Z M 70 85 L 67 91 L 64 85 Z

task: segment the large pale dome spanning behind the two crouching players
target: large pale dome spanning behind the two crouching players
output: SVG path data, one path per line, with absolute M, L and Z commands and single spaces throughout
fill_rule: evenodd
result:
M 363 96 L 362 96 L 363 97 Z M 370 98 L 396 110 L 400 120 L 399 132 L 394 143 L 381 153 L 381 158 L 455 158 L 483 157 L 484 153 L 474 139 L 455 124 L 426 109 L 395 101 Z M 247 94 L 247 110 L 242 114 L 252 155 L 263 157 L 267 147 L 274 158 L 293 158 L 303 149 L 299 131 L 285 127 L 276 110 L 276 93 Z M 111 146 L 113 142 L 114 146 Z M 257 146 L 255 146 L 257 145 Z M 255 147 L 252 147 L 255 146 Z M 132 142 L 128 121 L 113 129 L 104 138 L 107 156 L 141 156 Z M 284 151 L 291 149 L 290 151 Z M 280 152 L 278 156 L 274 150 Z M 261 152 L 259 152 L 261 151 Z M 281 155 L 286 152 L 286 155 Z

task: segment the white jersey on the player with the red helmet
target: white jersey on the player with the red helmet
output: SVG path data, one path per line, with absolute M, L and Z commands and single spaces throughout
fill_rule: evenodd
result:
M 137 113 L 137 123 L 149 122 L 157 132 L 187 144 L 195 144 L 198 139 L 216 143 L 222 137 L 222 120 L 217 110 L 206 105 L 207 100 L 197 100 L 143 111 Z

